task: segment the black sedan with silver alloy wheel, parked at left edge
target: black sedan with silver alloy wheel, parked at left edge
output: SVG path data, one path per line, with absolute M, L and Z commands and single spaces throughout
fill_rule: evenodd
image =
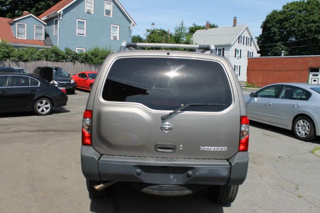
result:
M 52 108 L 66 105 L 67 99 L 60 89 L 35 76 L 0 74 L 0 113 L 34 111 L 46 115 Z

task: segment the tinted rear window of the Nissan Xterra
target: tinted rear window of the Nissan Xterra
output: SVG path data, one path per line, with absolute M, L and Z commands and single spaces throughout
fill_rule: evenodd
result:
M 224 105 L 189 106 L 185 110 L 222 111 L 232 103 L 230 85 L 221 64 L 165 57 L 115 60 L 106 77 L 102 98 L 141 103 L 156 110 L 174 110 L 189 103 L 218 103 Z

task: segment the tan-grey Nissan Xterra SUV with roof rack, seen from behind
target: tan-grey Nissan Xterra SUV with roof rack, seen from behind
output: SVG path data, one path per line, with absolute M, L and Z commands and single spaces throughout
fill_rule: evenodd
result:
M 123 41 L 104 60 L 83 114 L 89 197 L 107 196 L 113 183 L 126 181 L 162 196 L 207 187 L 212 201 L 231 203 L 246 177 L 248 138 L 237 77 L 212 44 Z

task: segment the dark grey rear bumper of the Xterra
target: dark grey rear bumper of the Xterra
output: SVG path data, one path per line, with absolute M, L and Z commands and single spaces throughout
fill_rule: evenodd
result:
M 246 177 L 247 165 L 248 152 L 238 152 L 228 160 L 178 159 L 101 155 L 91 146 L 81 147 L 82 172 L 92 180 L 238 185 Z

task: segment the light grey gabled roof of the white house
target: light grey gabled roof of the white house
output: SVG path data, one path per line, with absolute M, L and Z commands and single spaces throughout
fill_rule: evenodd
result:
M 257 50 L 259 47 L 254 40 L 253 35 L 247 24 L 241 24 L 236 26 L 216 27 L 209 29 L 199 29 L 193 34 L 193 42 L 197 44 L 212 43 L 215 46 L 232 45 L 238 36 L 247 29 L 250 37 L 252 38 L 253 45 Z

